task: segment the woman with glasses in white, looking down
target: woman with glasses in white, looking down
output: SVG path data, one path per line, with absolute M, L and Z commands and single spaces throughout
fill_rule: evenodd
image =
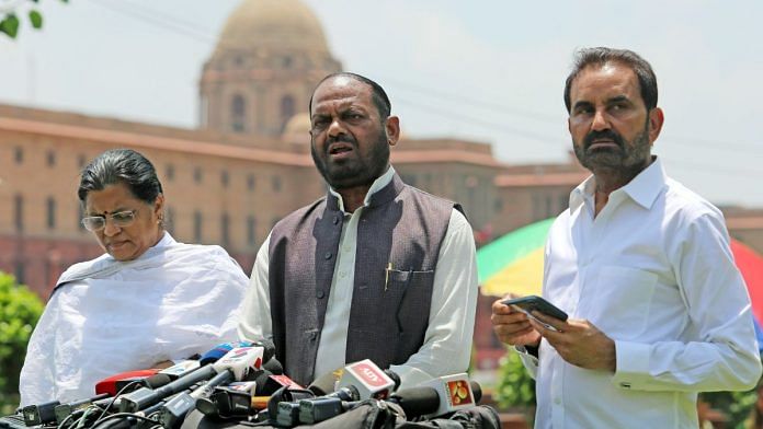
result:
M 22 406 L 87 398 L 99 380 L 237 339 L 247 276 L 221 247 L 164 231 L 164 195 L 145 156 L 104 152 L 82 171 L 78 196 L 106 253 L 56 282 L 27 346 Z

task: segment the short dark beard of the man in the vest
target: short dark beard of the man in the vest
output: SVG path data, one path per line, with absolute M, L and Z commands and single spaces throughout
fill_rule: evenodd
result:
M 374 142 L 367 159 L 360 158 L 357 142 L 352 139 L 343 140 L 352 143 L 358 158 L 350 160 L 346 165 L 329 165 L 328 153 L 323 158 L 316 152 L 315 141 L 310 143 L 312 162 L 323 179 L 335 190 L 348 189 L 360 186 L 371 186 L 374 181 L 382 176 L 389 165 L 389 144 L 386 130 L 379 132 L 379 137 Z M 327 144 L 328 148 L 328 144 Z

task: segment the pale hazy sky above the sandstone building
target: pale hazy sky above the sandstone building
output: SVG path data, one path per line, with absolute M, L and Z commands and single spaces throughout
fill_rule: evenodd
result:
M 763 207 L 762 1 L 304 1 L 405 132 L 490 142 L 508 163 L 567 158 L 576 48 L 636 50 L 657 72 L 668 173 L 716 204 Z M 44 31 L 0 37 L 0 103 L 195 127 L 202 63 L 238 3 L 46 0 Z

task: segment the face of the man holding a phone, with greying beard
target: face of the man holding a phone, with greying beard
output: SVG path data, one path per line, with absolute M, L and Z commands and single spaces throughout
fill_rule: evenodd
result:
M 588 170 L 641 170 L 662 126 L 662 112 L 647 112 L 636 73 L 607 62 L 583 69 L 570 88 L 574 154 Z

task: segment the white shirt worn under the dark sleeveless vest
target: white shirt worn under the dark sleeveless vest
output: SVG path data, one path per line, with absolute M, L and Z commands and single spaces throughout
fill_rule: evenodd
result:
M 357 222 L 364 208 L 368 206 L 371 196 L 387 186 L 394 175 L 395 170 L 390 166 L 371 186 L 364 206 L 352 213 L 344 212 L 339 255 L 316 357 L 316 376 L 334 371 L 346 363 L 344 357 L 355 281 Z M 339 198 L 339 208 L 344 211 L 342 197 L 333 189 L 330 192 Z M 272 335 L 267 286 L 269 247 L 270 236 L 260 247 L 252 269 L 251 283 L 239 324 L 239 336 L 242 338 Z M 435 376 L 466 371 L 471 353 L 476 306 L 477 260 L 474 234 L 464 215 L 454 209 L 440 247 L 424 344 L 403 364 L 390 367 L 400 375 L 400 389 Z

